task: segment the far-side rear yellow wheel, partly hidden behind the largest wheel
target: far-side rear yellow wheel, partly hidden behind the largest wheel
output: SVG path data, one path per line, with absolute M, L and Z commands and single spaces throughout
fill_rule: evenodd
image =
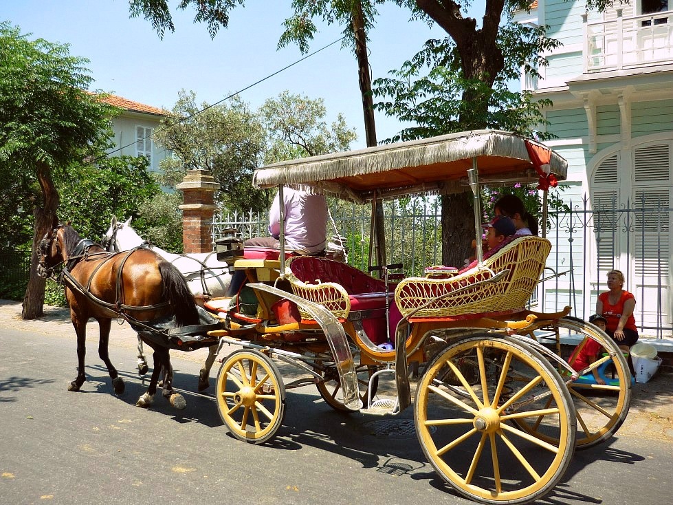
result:
M 631 402 L 631 373 L 617 343 L 595 325 L 582 319 L 564 317 L 558 320 L 558 326 L 551 329 L 592 339 L 609 354 L 593 363 L 593 367 L 598 368 L 610 361 L 606 367 L 608 380 L 605 385 L 583 380 L 569 382 L 567 374 L 564 377 L 577 412 L 577 449 L 588 449 L 608 440 L 624 424 Z M 591 375 L 591 372 L 588 374 Z M 542 440 L 549 440 L 544 433 L 538 432 L 534 424 L 521 426 Z

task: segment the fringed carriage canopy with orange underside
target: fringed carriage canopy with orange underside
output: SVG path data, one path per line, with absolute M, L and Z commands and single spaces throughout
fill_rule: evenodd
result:
M 257 187 L 310 186 L 364 203 L 410 193 L 461 193 L 476 158 L 482 182 L 564 180 L 568 162 L 540 142 L 506 131 L 478 130 L 274 163 L 258 169 Z

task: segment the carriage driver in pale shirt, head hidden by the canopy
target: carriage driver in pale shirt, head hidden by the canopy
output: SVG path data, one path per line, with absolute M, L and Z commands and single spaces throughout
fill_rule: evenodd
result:
M 283 187 L 285 210 L 285 250 L 299 255 L 322 253 L 327 246 L 327 201 L 324 195 L 300 189 Z M 243 242 L 243 249 L 251 247 L 280 249 L 280 191 L 269 209 L 271 237 L 252 237 Z M 236 270 L 228 295 L 233 297 L 245 281 L 245 272 Z

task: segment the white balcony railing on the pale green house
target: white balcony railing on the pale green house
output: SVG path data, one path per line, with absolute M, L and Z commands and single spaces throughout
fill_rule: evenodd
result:
M 673 10 L 588 23 L 584 21 L 584 73 L 673 62 Z

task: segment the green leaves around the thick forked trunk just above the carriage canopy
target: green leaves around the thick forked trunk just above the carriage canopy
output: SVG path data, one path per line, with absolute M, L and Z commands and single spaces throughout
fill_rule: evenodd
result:
M 411 125 L 388 142 L 485 128 L 544 140 L 548 134 L 540 129 L 545 123 L 542 108 L 551 102 L 534 99 L 532 92 L 513 92 L 509 83 L 521 67 L 538 77 L 538 68 L 547 65 L 540 54 L 557 46 L 558 41 L 544 37 L 544 28 L 507 23 L 498 33 L 505 63 L 489 84 L 483 76 L 465 75 L 450 37 L 426 42 L 410 61 L 390 72 L 392 77 L 373 83 L 375 96 L 381 98 L 375 107 Z M 485 107 L 475 106 L 475 100 Z

